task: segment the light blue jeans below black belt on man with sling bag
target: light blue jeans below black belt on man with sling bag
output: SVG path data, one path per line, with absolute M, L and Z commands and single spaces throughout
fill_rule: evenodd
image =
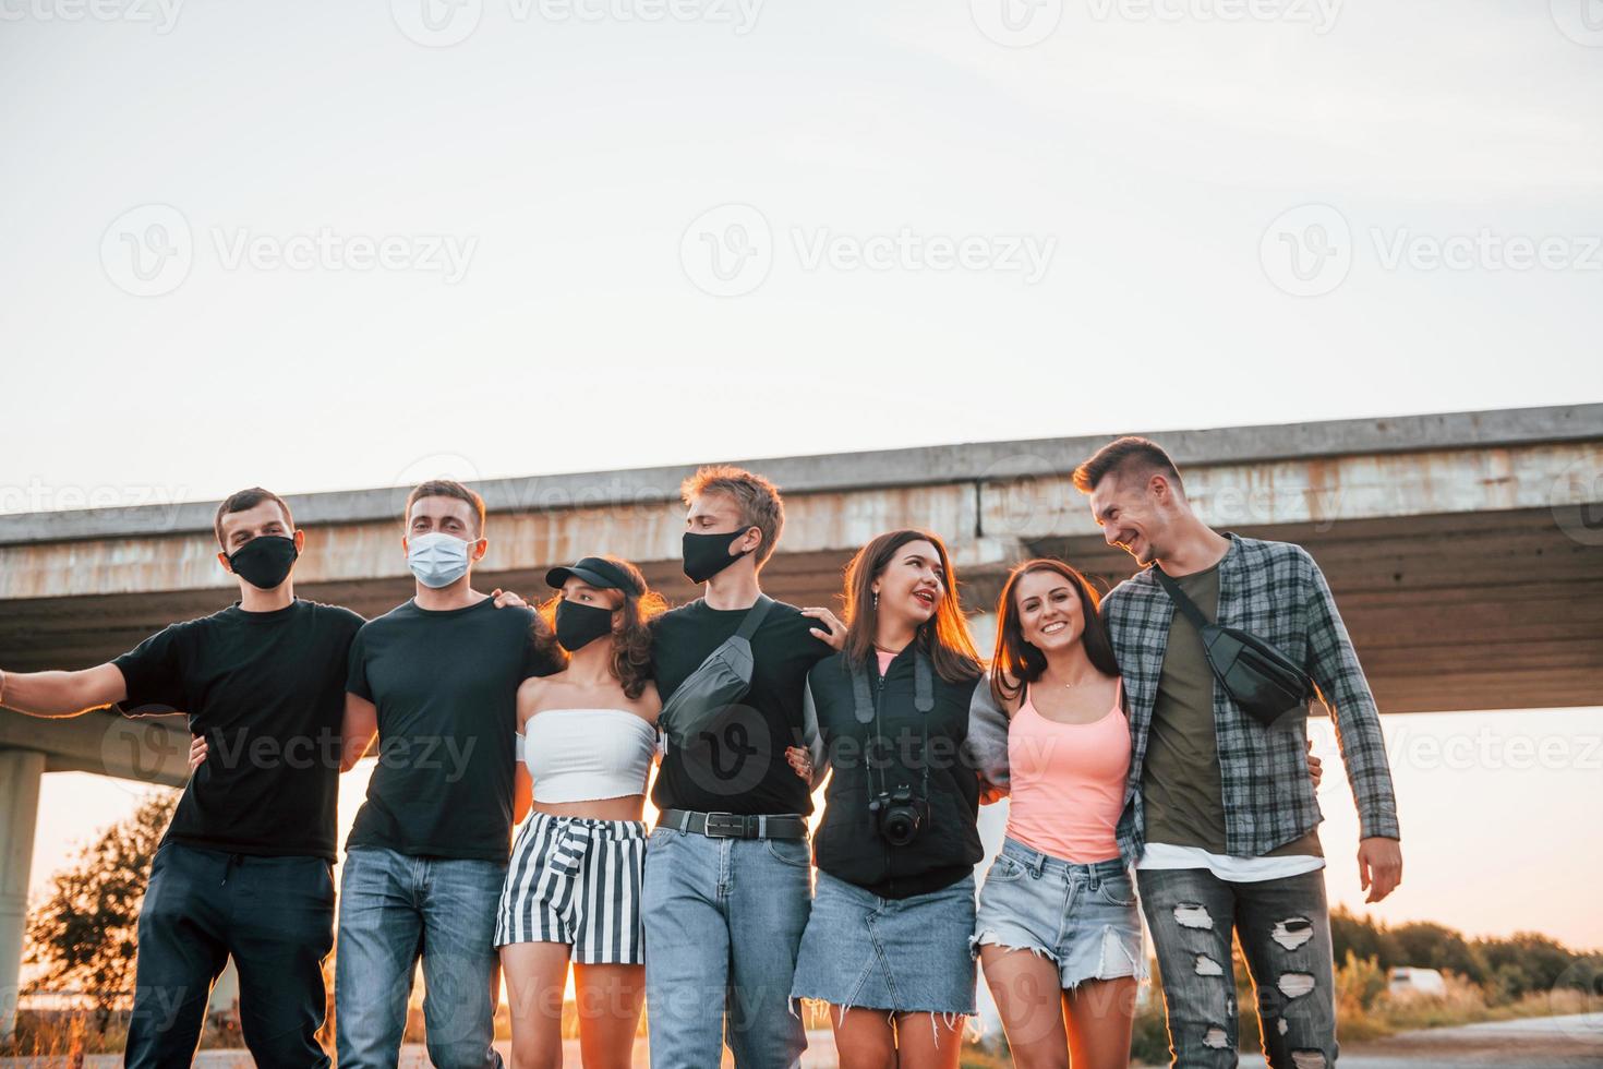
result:
M 790 1008 L 811 907 L 811 851 L 793 838 L 707 838 L 659 827 L 646 843 L 646 1015 L 654 1069 L 795 1066 Z

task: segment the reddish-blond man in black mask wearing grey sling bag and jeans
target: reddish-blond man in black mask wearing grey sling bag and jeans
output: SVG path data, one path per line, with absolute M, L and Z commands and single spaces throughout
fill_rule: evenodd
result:
M 749 471 L 702 468 L 681 492 L 684 574 L 705 595 L 656 623 L 665 713 L 757 603 L 784 527 L 779 490 Z M 652 1066 L 717 1066 L 725 1039 L 741 1069 L 793 1066 L 806 1050 L 790 979 L 811 906 L 813 800 L 785 747 L 802 744 L 808 668 L 843 639 L 829 609 L 774 603 L 752 635 L 745 697 L 662 758 L 641 888 Z

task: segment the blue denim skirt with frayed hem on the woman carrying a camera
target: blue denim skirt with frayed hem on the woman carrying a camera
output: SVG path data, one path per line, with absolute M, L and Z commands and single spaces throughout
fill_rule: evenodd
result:
M 792 998 L 890 1013 L 975 1011 L 975 878 L 880 898 L 819 872 Z

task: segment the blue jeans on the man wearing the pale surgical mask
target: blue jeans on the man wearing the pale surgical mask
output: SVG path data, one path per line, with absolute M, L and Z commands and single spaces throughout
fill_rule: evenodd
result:
M 500 989 L 495 904 L 505 880 L 507 865 L 494 861 L 346 851 L 333 966 L 341 1069 L 393 1069 L 418 957 L 430 1061 L 441 1069 L 502 1064 L 491 1042 Z

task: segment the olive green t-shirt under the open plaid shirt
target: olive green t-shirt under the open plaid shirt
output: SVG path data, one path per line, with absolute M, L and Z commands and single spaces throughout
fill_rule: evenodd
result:
M 1210 620 L 1218 617 L 1218 564 L 1177 575 L 1175 582 L 1202 615 Z M 1202 652 L 1202 636 L 1178 611 L 1169 625 L 1169 646 L 1153 702 L 1153 726 L 1141 764 L 1141 806 L 1148 843 L 1228 853 L 1218 739 L 1213 734 L 1213 670 Z M 1324 856 L 1318 829 L 1265 856 L 1286 854 Z

